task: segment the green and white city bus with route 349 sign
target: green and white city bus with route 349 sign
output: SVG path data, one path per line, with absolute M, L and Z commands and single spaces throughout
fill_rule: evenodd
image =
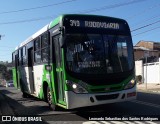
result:
M 12 60 L 15 87 L 52 110 L 136 99 L 132 37 L 123 19 L 60 15 L 16 47 Z

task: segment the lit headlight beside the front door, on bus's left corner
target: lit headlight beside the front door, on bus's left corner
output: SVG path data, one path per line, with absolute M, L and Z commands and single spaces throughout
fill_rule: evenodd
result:
M 70 86 L 73 92 L 75 93 L 88 93 L 88 91 L 81 85 L 74 83 L 72 81 L 66 80 L 66 84 Z

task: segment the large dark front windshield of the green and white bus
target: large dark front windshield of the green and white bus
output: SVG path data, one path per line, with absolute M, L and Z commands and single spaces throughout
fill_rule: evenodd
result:
M 83 74 L 108 74 L 133 69 L 130 36 L 106 34 L 68 34 L 67 70 Z

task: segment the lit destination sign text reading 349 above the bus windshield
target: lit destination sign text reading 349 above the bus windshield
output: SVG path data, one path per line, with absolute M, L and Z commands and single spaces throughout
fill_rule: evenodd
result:
M 103 28 L 103 29 L 120 29 L 120 24 L 115 22 L 100 22 L 100 21 L 81 21 L 70 20 L 71 27 L 88 27 L 88 28 Z

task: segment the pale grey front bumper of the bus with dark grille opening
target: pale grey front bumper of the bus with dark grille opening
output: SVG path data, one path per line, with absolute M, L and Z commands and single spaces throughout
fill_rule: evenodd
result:
M 65 97 L 67 109 L 130 101 L 136 99 L 136 86 L 132 89 L 110 93 L 76 94 L 72 91 L 65 91 Z

